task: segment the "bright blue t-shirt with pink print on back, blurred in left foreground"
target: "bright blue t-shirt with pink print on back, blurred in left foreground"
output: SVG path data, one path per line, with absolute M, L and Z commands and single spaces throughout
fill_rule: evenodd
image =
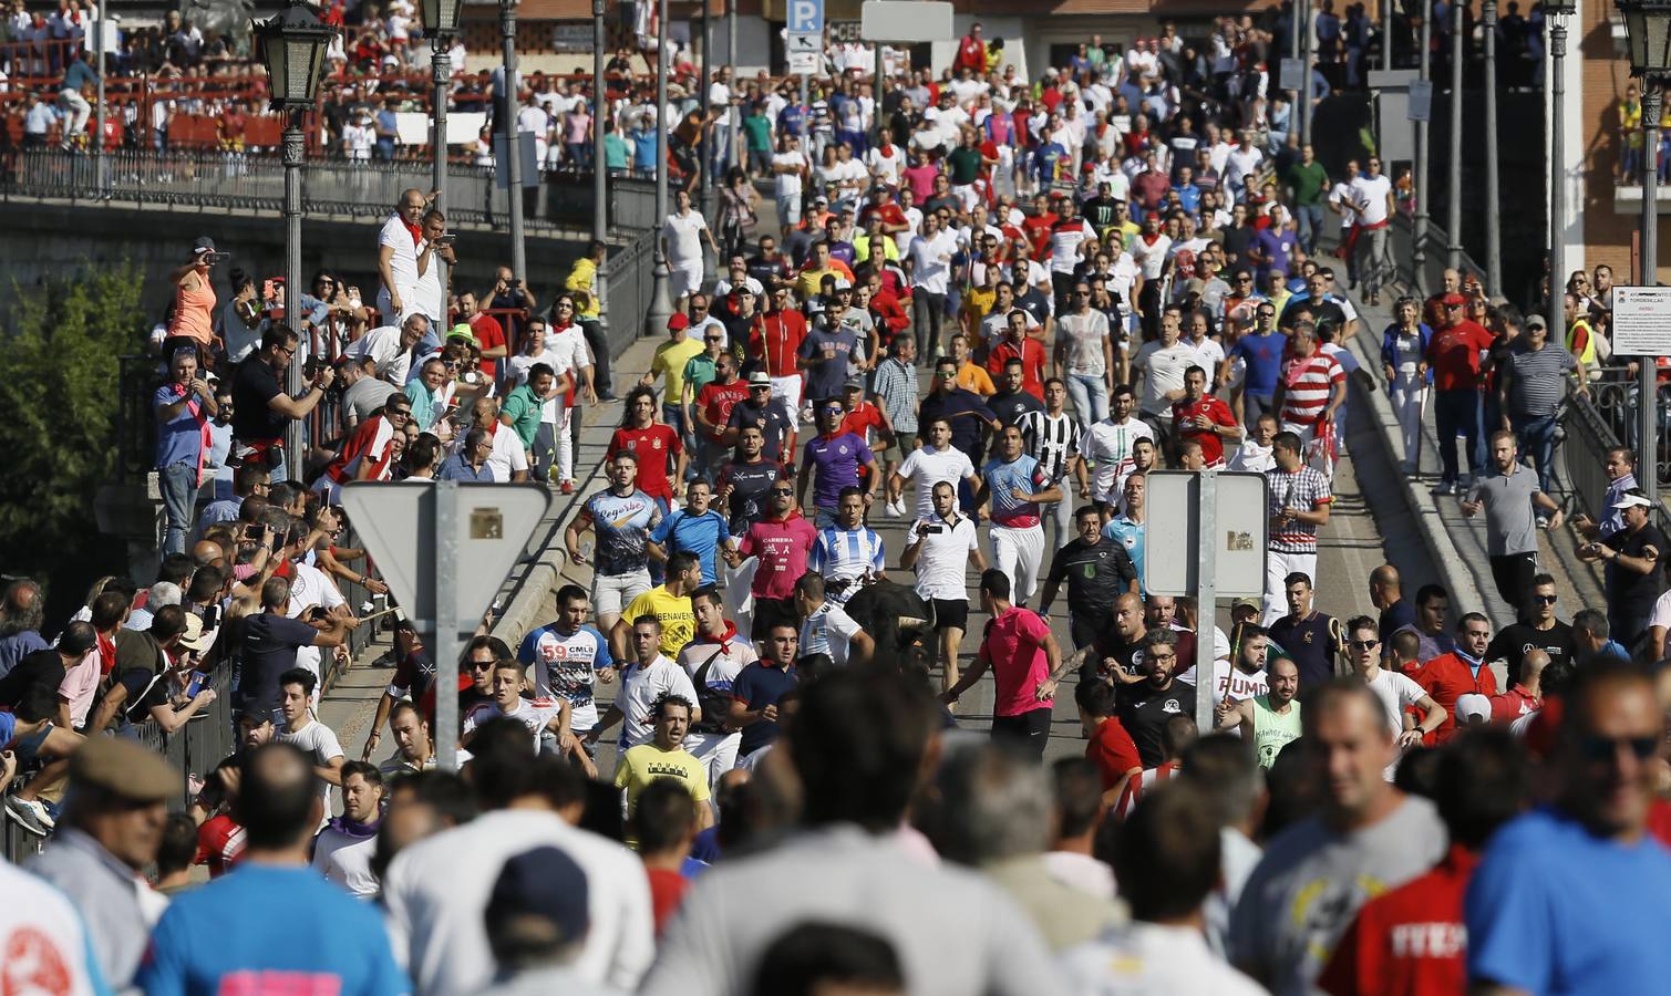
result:
M 149 996 L 411 993 L 376 906 L 312 869 L 259 864 L 177 896 L 134 981 Z

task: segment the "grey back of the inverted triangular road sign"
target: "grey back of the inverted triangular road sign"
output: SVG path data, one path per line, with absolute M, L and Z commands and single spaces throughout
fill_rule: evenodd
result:
M 540 485 L 343 485 L 354 531 L 419 632 L 434 632 L 436 620 L 446 617 L 456 630 L 475 630 L 550 503 Z M 444 520 L 451 528 L 441 531 Z M 448 551 L 453 567 L 438 572 Z

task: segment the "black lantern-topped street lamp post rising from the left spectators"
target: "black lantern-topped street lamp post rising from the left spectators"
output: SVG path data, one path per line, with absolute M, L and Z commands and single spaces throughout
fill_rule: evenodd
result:
M 284 119 L 284 324 L 296 338 L 302 338 L 302 154 L 306 139 L 302 135 L 302 114 L 314 105 L 319 92 L 319 69 L 324 65 L 324 50 L 336 35 L 336 28 L 326 25 L 314 13 L 314 8 L 301 0 L 272 15 L 266 22 L 252 25 L 256 42 L 261 48 L 261 60 L 267 67 L 267 85 L 272 90 L 271 109 L 286 115 Z M 291 354 L 291 366 L 286 371 L 284 389 L 291 394 L 302 391 L 302 366 L 307 363 L 307 349 Z M 291 419 L 284 429 L 286 460 L 289 466 L 301 473 L 304 453 L 302 423 Z

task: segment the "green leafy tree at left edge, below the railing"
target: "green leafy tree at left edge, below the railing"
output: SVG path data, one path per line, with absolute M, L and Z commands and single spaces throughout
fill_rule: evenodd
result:
M 87 267 L 13 287 L 5 316 L 0 570 L 40 580 L 55 617 L 92 578 L 127 573 L 124 543 L 99 535 L 94 496 L 117 476 L 117 358 L 145 328 L 140 284 L 130 264 Z

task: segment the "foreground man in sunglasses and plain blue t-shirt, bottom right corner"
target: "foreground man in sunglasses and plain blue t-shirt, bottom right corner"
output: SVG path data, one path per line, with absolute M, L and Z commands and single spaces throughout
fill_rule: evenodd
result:
M 1664 739 L 1653 677 L 1594 660 L 1562 705 L 1554 804 L 1499 829 L 1469 882 L 1469 991 L 1663 991 L 1671 854 L 1648 829 Z M 1559 857 L 1529 871 L 1532 854 Z

